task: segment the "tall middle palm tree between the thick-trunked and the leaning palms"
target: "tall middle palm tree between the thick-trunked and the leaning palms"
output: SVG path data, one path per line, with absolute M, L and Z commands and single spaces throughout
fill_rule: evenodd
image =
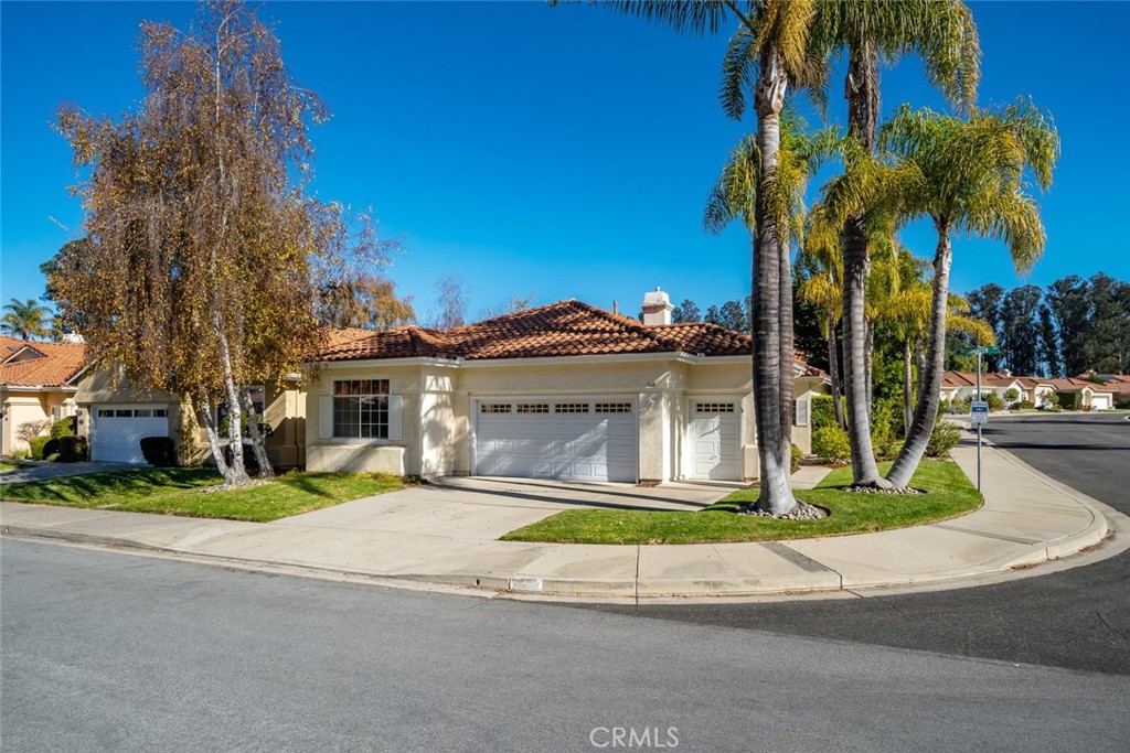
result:
M 959 108 L 971 107 L 981 51 L 970 9 L 960 0 L 822 0 L 809 54 L 846 50 L 847 135 L 871 154 L 879 123 L 879 61 L 913 54 L 927 78 Z M 867 405 L 864 298 L 870 254 L 862 210 L 844 218 L 843 342 L 852 471 L 859 485 L 885 485 L 873 461 Z

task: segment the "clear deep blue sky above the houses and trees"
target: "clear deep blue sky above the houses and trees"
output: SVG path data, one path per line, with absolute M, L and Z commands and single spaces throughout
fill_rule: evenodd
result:
M 981 104 L 1024 94 L 1063 142 L 1042 198 L 1049 245 L 1019 279 L 1002 246 L 959 240 L 954 288 L 1046 284 L 1099 270 L 1130 278 L 1130 3 L 976 2 Z M 37 298 L 38 265 L 79 233 L 70 152 L 55 108 L 120 113 L 141 95 L 144 18 L 183 25 L 191 3 L 0 6 L 0 297 Z M 313 132 L 315 189 L 372 207 L 403 253 L 389 270 L 417 312 L 441 274 L 463 280 L 469 314 L 514 294 L 635 313 L 661 286 L 702 308 L 748 291 L 749 244 L 702 230 L 706 192 L 754 121 L 724 117 L 715 90 L 725 38 L 588 6 L 268 2 L 295 79 L 333 119 Z M 832 117 L 845 117 L 842 73 Z M 920 68 L 884 72 L 884 107 L 944 107 Z M 814 191 L 818 187 L 812 186 Z M 932 253 L 932 228 L 903 242 Z

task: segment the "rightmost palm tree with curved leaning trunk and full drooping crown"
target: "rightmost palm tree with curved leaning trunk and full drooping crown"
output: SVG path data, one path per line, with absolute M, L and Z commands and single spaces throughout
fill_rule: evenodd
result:
M 884 126 L 880 147 L 894 149 L 922 172 L 923 180 L 905 196 L 907 211 L 930 217 L 938 233 L 925 368 L 906 441 L 887 474 L 888 482 L 904 488 L 922 459 L 938 413 L 951 236 L 956 230 L 1001 240 L 1018 271 L 1031 269 L 1046 236 L 1028 189 L 1033 181 L 1042 190 L 1051 185 L 1059 135 L 1050 116 L 1023 99 L 998 112 L 974 110 L 968 120 L 904 105 Z

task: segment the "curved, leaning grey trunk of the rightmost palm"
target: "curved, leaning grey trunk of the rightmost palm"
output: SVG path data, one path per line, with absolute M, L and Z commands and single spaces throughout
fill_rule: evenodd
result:
M 930 312 L 930 335 L 927 341 L 925 371 L 920 375 L 918 404 L 914 419 L 906 428 L 906 440 L 898 450 L 895 464 L 890 466 L 887 481 L 895 488 L 904 489 L 918 470 L 925 446 L 933 431 L 941 402 L 941 373 L 946 367 L 946 313 L 949 308 L 949 268 L 953 263 L 953 245 L 949 224 L 935 220 L 938 228 L 938 249 L 933 257 L 933 295 Z

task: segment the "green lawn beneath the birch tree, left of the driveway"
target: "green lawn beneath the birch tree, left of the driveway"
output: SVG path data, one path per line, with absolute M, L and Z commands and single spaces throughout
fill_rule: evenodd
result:
M 266 523 L 403 487 L 399 476 L 292 472 L 246 489 L 202 492 L 215 471 L 138 469 L 5 484 L 0 498 L 66 507 Z

